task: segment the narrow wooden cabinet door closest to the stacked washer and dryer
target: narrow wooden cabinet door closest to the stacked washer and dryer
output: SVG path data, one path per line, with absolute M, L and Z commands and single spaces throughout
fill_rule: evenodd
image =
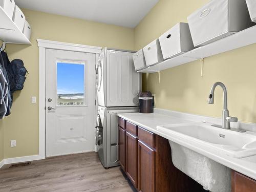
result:
M 125 131 L 118 126 L 118 162 L 125 172 Z

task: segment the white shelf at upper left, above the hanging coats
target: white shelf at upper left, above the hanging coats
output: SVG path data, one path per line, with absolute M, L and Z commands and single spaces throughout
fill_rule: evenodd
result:
M 29 39 L 14 24 L 12 19 L 8 17 L 2 7 L 0 7 L 0 39 L 7 44 L 28 44 L 31 45 Z

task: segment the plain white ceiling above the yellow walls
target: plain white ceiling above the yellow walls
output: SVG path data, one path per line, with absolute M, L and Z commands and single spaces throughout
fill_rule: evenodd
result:
M 20 8 L 136 27 L 159 0 L 15 0 Z

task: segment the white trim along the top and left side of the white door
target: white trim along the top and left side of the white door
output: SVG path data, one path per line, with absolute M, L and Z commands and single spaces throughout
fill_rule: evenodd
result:
M 46 50 L 66 50 L 100 54 L 101 47 L 70 44 L 44 39 L 36 39 L 39 47 L 39 156 L 46 157 Z M 96 56 L 97 59 L 97 56 Z

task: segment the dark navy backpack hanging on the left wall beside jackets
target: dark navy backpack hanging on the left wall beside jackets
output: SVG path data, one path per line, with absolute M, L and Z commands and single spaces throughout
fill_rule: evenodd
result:
M 23 60 L 14 59 L 8 66 L 9 86 L 11 92 L 22 90 L 26 80 L 27 69 L 24 67 Z

